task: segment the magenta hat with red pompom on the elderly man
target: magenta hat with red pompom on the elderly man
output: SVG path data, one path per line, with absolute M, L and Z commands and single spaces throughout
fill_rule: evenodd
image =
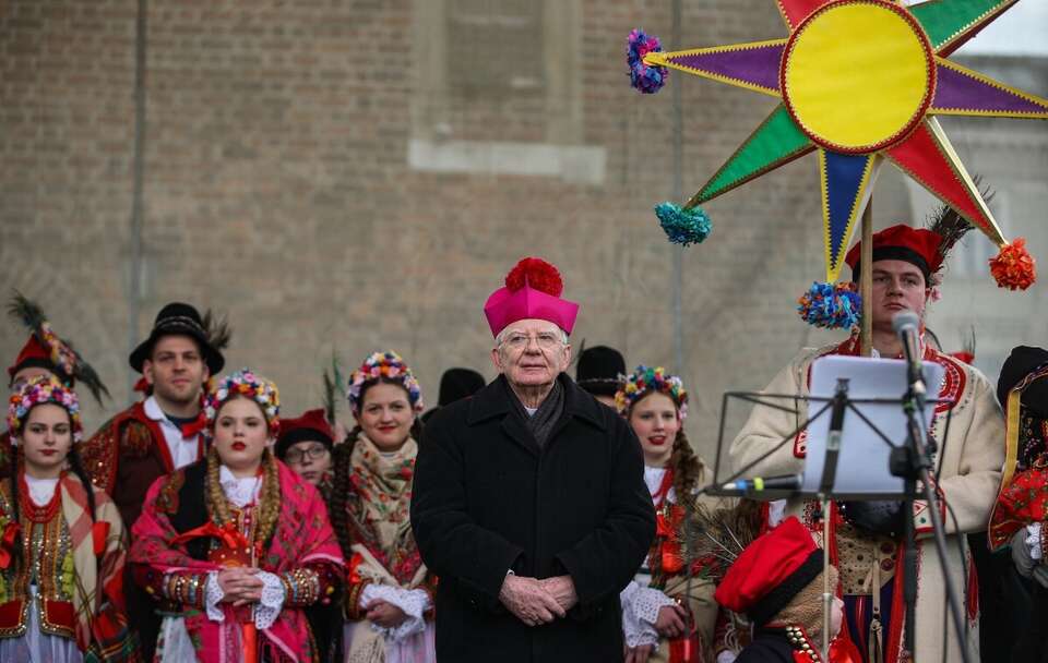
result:
M 484 314 L 491 335 L 519 320 L 545 320 L 571 334 L 579 304 L 560 299 L 564 282 L 557 267 L 538 257 L 525 257 L 505 275 L 505 287 L 491 293 Z

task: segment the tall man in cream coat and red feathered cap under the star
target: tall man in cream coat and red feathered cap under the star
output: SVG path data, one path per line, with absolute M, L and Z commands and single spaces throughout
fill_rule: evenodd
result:
M 952 221 L 951 221 L 952 219 Z M 944 210 L 931 230 L 893 226 L 873 236 L 873 354 L 901 358 L 902 345 L 892 328 L 892 318 L 902 311 L 912 311 L 924 320 L 925 309 L 932 299 L 940 280 L 940 270 L 946 252 L 963 234 L 956 229 L 957 217 Z M 848 252 L 846 261 L 859 275 L 859 245 Z M 831 560 L 841 571 L 847 628 L 851 639 L 870 663 L 901 661 L 904 637 L 903 518 L 913 518 L 918 535 L 918 588 L 916 608 L 917 661 L 939 661 L 946 644 L 945 660 L 961 660 L 960 641 L 978 659 L 978 594 L 970 555 L 962 559 L 963 535 L 982 530 L 990 515 L 1004 462 L 1004 425 L 993 386 L 976 369 L 943 354 L 924 342 L 925 361 L 937 362 L 945 370 L 941 397 L 946 402 L 936 408 L 930 433 L 939 441 L 933 458 L 938 470 L 938 508 L 946 527 L 948 568 L 954 587 L 967 588 L 965 608 L 973 627 L 961 638 L 950 624 L 943 637 L 946 618 L 943 569 L 931 539 L 931 519 L 925 502 L 915 504 L 913 514 L 902 511 L 902 503 L 832 503 L 830 510 Z M 835 346 L 805 349 L 798 353 L 771 384 L 769 394 L 808 395 L 809 369 L 813 360 L 825 354 L 858 354 L 859 338 L 853 330 L 850 338 Z M 948 410 L 952 422 L 946 426 Z M 731 463 L 741 469 L 765 457 L 752 472 L 761 475 L 799 472 L 803 468 L 807 431 L 794 437 L 793 444 L 782 445 L 807 419 L 807 408 L 796 413 L 758 406 L 733 442 Z M 949 434 L 948 434 L 949 433 Z M 946 505 L 950 517 L 946 517 Z M 822 515 L 818 504 L 793 498 L 785 504 L 785 513 L 800 518 L 821 539 Z M 782 513 L 781 508 L 771 509 Z M 772 519 L 774 520 L 774 518 Z M 774 525 L 774 522 L 772 522 Z M 964 577 L 969 570 L 968 579 Z

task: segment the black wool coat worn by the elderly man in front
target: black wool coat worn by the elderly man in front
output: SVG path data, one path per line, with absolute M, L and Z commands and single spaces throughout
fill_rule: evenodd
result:
M 655 535 L 641 446 L 565 374 L 544 447 L 504 377 L 433 414 L 419 443 L 412 527 L 437 574 L 441 663 L 622 660 L 619 592 Z M 499 602 L 507 571 L 570 575 L 579 604 L 531 627 Z

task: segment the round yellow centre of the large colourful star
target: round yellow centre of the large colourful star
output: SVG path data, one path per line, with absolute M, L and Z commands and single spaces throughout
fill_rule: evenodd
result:
M 869 154 L 898 142 L 925 117 L 934 72 L 928 37 L 904 9 L 884 0 L 837 0 L 794 31 L 782 92 L 812 141 Z

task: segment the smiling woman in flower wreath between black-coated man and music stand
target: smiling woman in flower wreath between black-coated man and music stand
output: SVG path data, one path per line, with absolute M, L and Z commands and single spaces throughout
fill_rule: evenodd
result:
M 712 480 L 684 435 L 688 393 L 662 367 L 638 366 L 615 396 L 644 451 L 644 481 L 655 503 L 655 541 L 645 564 L 620 594 L 627 661 L 683 663 L 708 658 L 717 604 L 707 580 L 689 578 L 677 534 L 684 518 L 681 496 L 691 496 Z M 717 501 L 700 497 L 713 506 Z M 689 638 L 692 627 L 701 651 Z M 702 656 L 701 659 L 699 656 Z

